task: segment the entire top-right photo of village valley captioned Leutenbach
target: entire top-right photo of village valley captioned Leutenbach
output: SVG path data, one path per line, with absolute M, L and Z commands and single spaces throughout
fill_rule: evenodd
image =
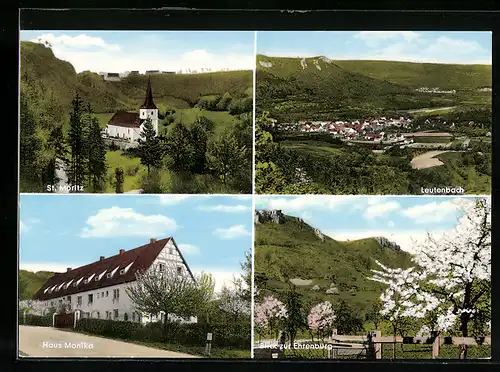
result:
M 491 32 L 256 43 L 256 193 L 491 194 Z

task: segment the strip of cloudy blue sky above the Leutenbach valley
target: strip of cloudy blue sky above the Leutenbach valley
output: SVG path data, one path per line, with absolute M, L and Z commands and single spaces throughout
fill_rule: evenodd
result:
M 257 53 L 276 57 L 491 64 L 483 31 L 262 31 Z

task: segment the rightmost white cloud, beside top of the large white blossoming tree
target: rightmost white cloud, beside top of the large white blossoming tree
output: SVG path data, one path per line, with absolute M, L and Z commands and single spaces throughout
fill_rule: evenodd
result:
M 465 200 L 465 199 L 464 199 Z M 416 205 L 401 211 L 403 216 L 411 218 L 415 223 L 433 223 L 448 219 L 456 219 L 460 206 L 457 199 L 446 200 L 443 202 L 432 202 Z

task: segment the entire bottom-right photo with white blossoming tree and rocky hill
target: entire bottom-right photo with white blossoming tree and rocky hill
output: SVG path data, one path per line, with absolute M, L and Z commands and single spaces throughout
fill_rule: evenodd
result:
M 255 358 L 491 358 L 490 196 L 255 208 Z

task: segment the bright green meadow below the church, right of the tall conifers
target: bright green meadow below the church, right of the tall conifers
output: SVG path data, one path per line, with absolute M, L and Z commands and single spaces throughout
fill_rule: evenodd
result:
M 115 188 L 111 183 L 115 177 L 115 168 L 121 167 L 124 172 L 123 191 L 138 190 L 141 188 L 141 180 L 147 174 L 147 168 L 141 164 L 139 158 L 130 158 L 122 155 L 120 150 L 106 152 L 106 163 L 108 172 L 106 175 L 106 192 L 114 193 Z M 161 172 L 162 183 L 170 184 L 170 172 Z

